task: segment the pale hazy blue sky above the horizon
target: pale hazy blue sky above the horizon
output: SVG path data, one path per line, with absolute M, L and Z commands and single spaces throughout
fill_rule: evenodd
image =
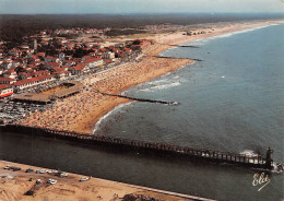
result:
M 284 12 L 284 0 L 0 0 L 0 13 Z

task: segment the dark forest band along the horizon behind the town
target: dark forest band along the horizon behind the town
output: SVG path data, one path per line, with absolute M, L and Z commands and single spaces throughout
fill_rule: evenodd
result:
M 153 24 L 178 24 L 190 25 L 199 23 L 228 22 L 240 20 L 280 19 L 283 13 L 275 14 L 234 14 L 234 13 L 211 13 L 203 14 L 37 14 L 17 15 L 0 14 L 0 40 L 13 45 L 22 44 L 24 36 L 37 34 L 39 31 L 47 29 L 52 32 L 58 28 L 141 28 Z M 133 31 L 135 32 L 135 31 Z M 139 31 L 137 31 L 139 32 Z M 117 31 L 108 33 L 116 36 L 121 34 Z M 123 33 L 126 34 L 126 33 Z

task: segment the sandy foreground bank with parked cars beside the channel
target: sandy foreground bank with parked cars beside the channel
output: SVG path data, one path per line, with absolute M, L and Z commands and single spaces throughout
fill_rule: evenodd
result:
M 21 170 L 4 169 L 5 166 L 20 167 Z M 33 168 L 34 172 L 25 173 Z M 0 161 L 0 200 L 1 201 L 119 201 L 127 198 L 144 198 L 144 200 L 191 200 L 190 196 L 179 194 L 157 189 L 127 185 L 105 179 L 90 178 L 76 174 L 64 173 L 67 177 L 59 177 L 56 174 L 37 174 L 35 170 L 45 169 L 35 166 L 16 164 Z M 28 181 L 33 178 L 32 181 Z M 56 179 L 55 185 L 47 184 L 48 179 Z M 80 181 L 81 178 L 90 178 Z M 40 179 L 40 184 L 36 180 Z M 12 190 L 13 189 L 13 190 Z M 25 196 L 27 191 L 33 191 L 33 196 Z M 194 197 L 191 197 L 194 198 Z

